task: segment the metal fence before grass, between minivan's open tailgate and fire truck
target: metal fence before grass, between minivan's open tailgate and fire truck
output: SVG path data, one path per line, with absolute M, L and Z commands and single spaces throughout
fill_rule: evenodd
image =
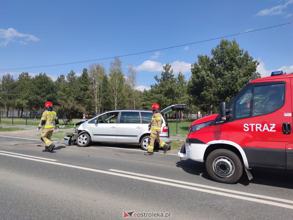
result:
M 176 113 L 168 118 L 170 135 L 186 136 L 190 124 L 196 119 L 208 116 L 209 114 L 179 114 Z

